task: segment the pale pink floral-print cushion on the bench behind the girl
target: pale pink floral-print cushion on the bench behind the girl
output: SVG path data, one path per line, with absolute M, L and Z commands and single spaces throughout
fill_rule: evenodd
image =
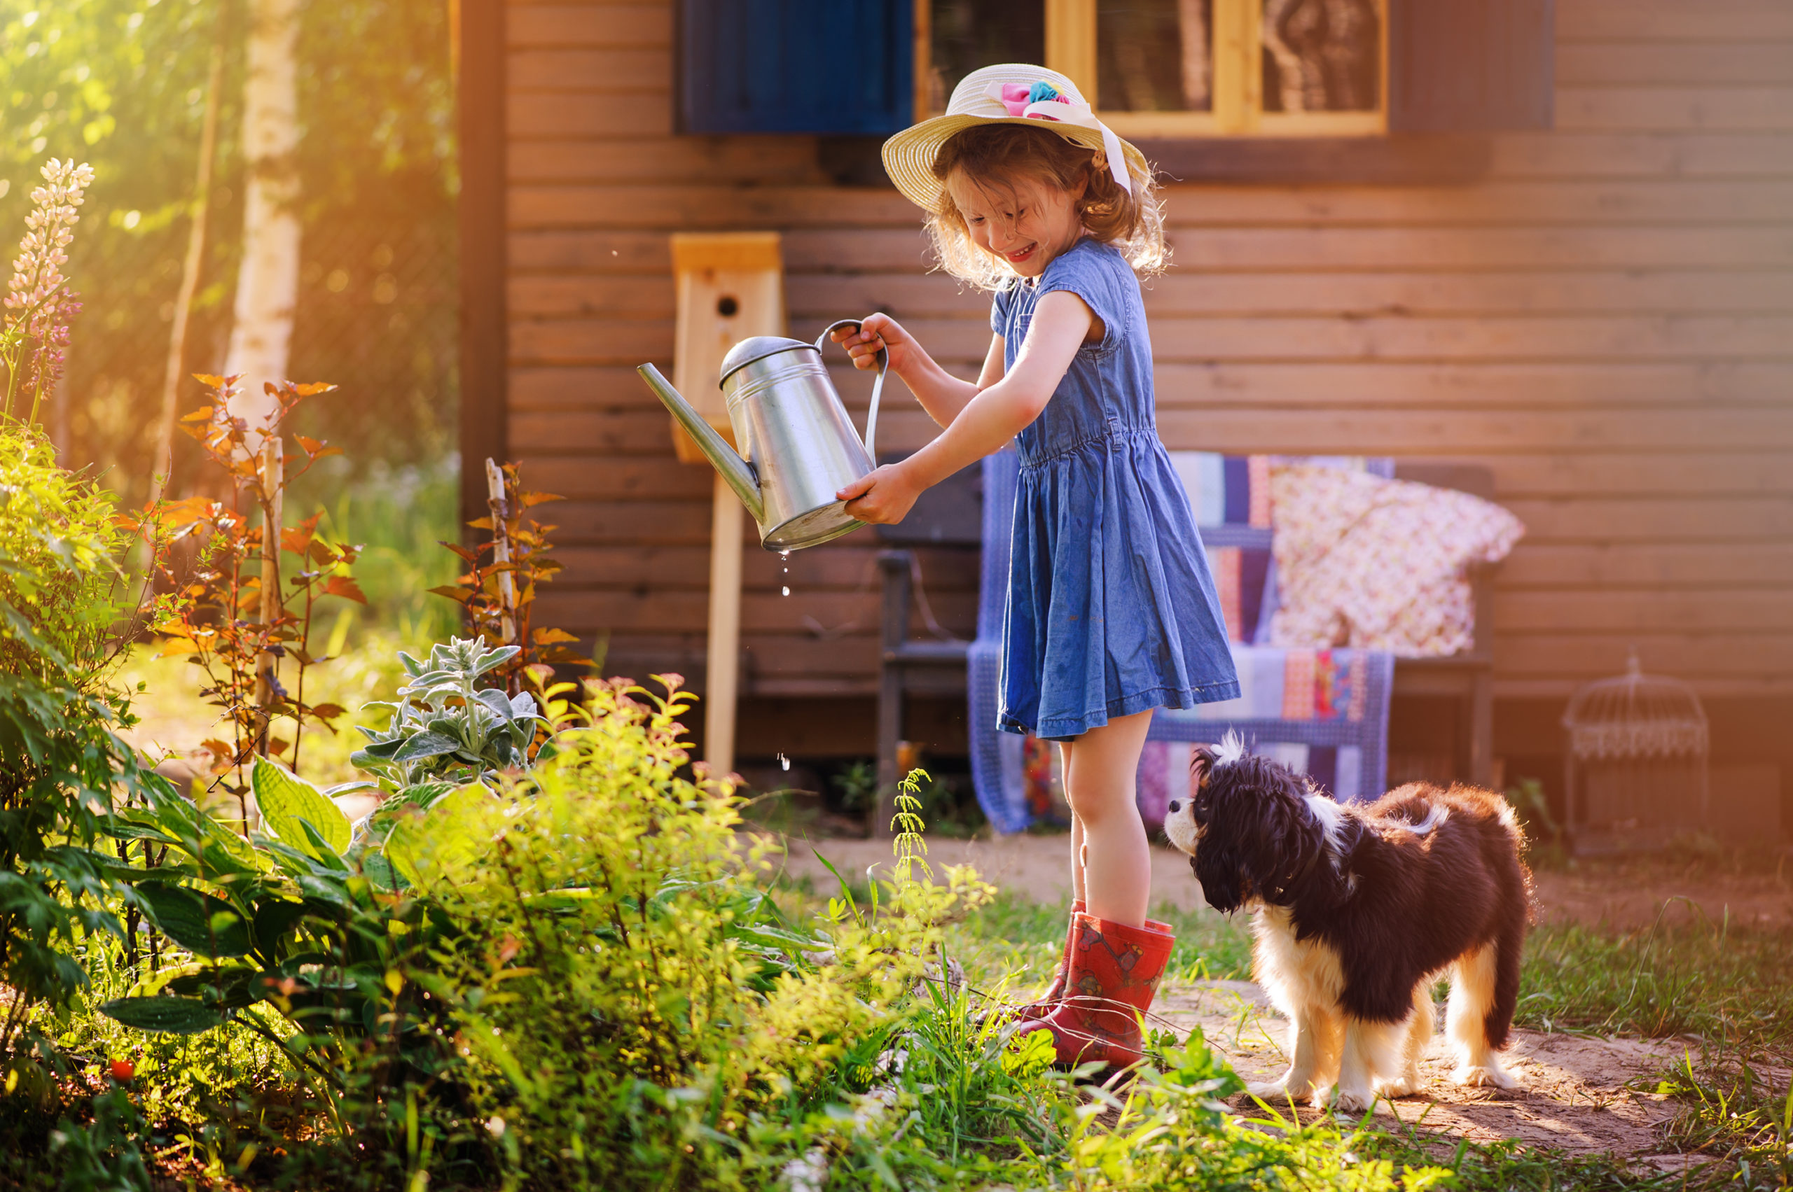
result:
M 1434 658 L 1476 642 L 1468 566 L 1526 527 L 1501 505 L 1427 484 L 1312 464 L 1269 470 L 1278 606 L 1271 642 Z

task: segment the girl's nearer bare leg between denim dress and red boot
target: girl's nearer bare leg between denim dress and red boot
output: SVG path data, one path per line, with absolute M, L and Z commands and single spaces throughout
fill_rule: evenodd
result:
M 1060 746 L 1072 891 L 1096 918 L 1128 927 L 1144 927 L 1151 900 L 1151 848 L 1133 790 L 1148 728 L 1151 712 L 1135 712 Z

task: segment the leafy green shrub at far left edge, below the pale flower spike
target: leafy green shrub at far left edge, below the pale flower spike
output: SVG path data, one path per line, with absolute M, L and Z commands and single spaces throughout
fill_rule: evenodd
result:
M 111 683 L 124 547 L 108 493 L 56 464 L 48 439 L 0 421 L 0 1068 L 27 1011 L 65 1004 L 86 980 L 70 952 L 84 930 L 120 932 L 95 851 L 113 787 L 136 765 L 115 730 Z

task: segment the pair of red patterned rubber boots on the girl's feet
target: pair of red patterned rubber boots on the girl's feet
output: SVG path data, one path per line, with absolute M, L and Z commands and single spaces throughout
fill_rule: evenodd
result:
M 1020 1029 L 1051 1031 L 1056 1063 L 1097 1059 L 1124 1068 L 1140 1059 L 1140 1015 L 1158 991 L 1176 936 L 1155 927 L 1126 927 L 1078 914 L 1070 975 L 1058 1009 Z

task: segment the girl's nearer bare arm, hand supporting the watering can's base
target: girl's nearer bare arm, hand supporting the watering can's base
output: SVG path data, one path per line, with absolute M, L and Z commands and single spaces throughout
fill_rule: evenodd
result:
M 861 522 L 902 522 L 922 489 L 997 452 L 1052 400 L 1096 315 L 1081 298 L 1054 290 L 1035 307 L 1015 369 L 979 389 L 932 443 L 902 461 L 853 480 L 837 497 Z M 997 348 L 1000 341 L 997 341 Z M 1000 355 L 997 355 L 1000 364 Z M 984 375 L 990 376 L 990 360 Z

